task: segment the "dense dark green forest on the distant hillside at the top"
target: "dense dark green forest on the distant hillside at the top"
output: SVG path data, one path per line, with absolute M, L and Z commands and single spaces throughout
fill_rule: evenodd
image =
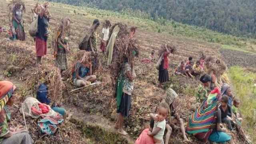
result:
M 256 38 L 256 0 L 49 0 L 136 14 Z

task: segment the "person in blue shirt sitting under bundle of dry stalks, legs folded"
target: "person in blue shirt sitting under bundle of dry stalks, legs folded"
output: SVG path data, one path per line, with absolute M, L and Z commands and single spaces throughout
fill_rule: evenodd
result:
M 95 75 L 92 75 L 92 62 L 90 60 L 76 62 L 72 75 L 73 83 L 77 87 L 86 86 L 97 79 Z

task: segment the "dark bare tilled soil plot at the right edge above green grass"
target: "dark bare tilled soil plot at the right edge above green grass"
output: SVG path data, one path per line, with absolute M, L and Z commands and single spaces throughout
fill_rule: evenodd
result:
M 220 54 L 226 61 L 227 66 L 256 67 L 256 55 L 239 52 L 236 50 L 220 49 Z

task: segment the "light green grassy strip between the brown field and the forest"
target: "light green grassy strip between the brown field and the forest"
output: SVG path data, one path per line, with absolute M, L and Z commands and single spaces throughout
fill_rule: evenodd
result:
M 196 40 L 202 40 L 204 42 L 213 42 L 218 44 L 225 44 L 225 45 L 233 45 L 238 48 L 250 48 L 256 51 L 256 40 L 251 38 L 238 38 L 236 36 L 231 36 L 228 34 L 222 34 L 219 32 L 215 32 L 212 30 L 208 30 L 204 27 L 197 27 L 197 26 L 189 26 L 187 24 L 182 24 L 179 22 L 175 22 L 174 20 L 165 20 L 160 19 L 158 22 L 154 22 L 151 19 L 140 18 L 138 14 L 134 13 L 119 13 L 113 12 L 108 10 L 98 10 L 96 8 L 87 8 L 87 7 L 79 7 L 79 6 L 71 6 L 68 4 L 61 4 L 61 3 L 54 3 L 50 2 L 51 4 L 58 4 L 59 7 L 68 7 L 73 8 L 74 10 L 70 11 L 75 15 L 86 16 L 88 18 L 110 18 L 115 19 L 114 21 L 123 22 L 124 20 L 129 25 L 138 26 L 142 30 L 150 30 L 159 33 L 169 34 L 171 36 L 178 36 L 182 38 L 192 38 Z M 86 14 L 82 11 L 86 12 Z

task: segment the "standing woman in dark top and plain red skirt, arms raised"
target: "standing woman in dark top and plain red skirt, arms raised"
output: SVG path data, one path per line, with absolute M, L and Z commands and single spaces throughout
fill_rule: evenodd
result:
M 38 17 L 38 32 L 36 34 L 36 64 L 41 65 L 42 56 L 47 54 L 47 38 L 49 35 L 49 12 L 48 4 L 40 5 Z

